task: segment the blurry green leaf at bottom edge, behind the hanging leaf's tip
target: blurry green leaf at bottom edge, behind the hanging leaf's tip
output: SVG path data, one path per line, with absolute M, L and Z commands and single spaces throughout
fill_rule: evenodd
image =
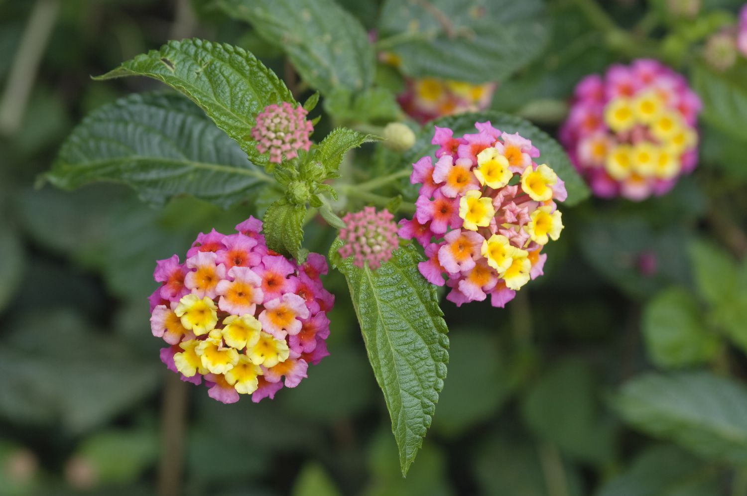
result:
M 397 464 L 397 447 L 386 429 L 376 431 L 368 447 L 371 478 L 362 496 L 449 496 L 446 456 L 436 444 L 424 442 L 407 477 Z

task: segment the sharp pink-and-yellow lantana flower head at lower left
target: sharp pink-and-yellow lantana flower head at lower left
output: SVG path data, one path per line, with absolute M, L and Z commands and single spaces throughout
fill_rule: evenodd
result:
M 184 381 L 204 378 L 223 403 L 273 398 L 329 355 L 326 312 L 335 297 L 320 280 L 326 260 L 288 260 L 267 248 L 261 229 L 249 217 L 235 234 L 200 233 L 183 264 L 173 255 L 153 273 L 161 286 L 149 297 L 151 330 L 170 345 L 161 360 Z

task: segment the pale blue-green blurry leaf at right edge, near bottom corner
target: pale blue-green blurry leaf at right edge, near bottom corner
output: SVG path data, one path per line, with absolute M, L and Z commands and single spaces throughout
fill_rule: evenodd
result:
M 747 462 L 747 391 L 731 379 L 648 373 L 623 385 L 615 403 L 636 429 L 707 458 Z

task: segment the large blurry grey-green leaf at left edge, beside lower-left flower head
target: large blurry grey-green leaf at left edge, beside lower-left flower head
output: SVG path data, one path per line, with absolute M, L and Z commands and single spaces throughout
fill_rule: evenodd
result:
M 71 311 L 35 311 L 8 323 L 0 350 L 0 415 L 18 424 L 97 427 L 160 385 L 159 367 Z

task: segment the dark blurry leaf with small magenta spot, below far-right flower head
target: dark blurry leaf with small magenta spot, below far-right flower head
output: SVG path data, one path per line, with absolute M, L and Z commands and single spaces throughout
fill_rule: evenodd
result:
M 633 297 L 648 297 L 672 282 L 688 282 L 685 229 L 653 229 L 639 217 L 603 217 L 584 226 L 580 251 L 589 264 Z

